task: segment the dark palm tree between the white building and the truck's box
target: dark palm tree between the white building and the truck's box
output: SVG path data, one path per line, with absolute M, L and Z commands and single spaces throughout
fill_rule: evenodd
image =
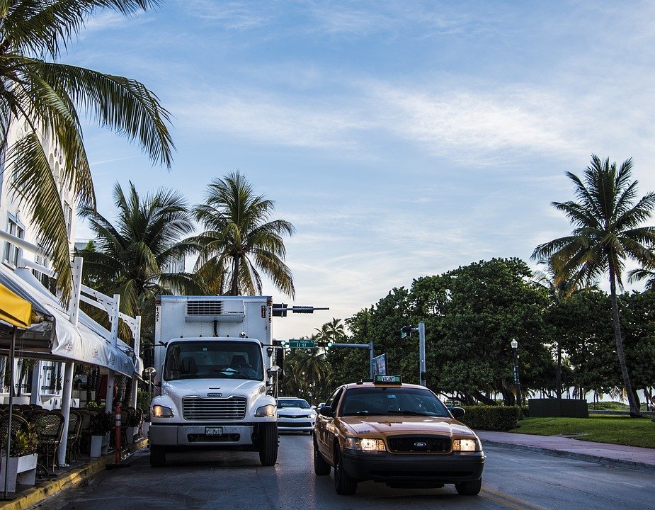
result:
M 96 234 L 96 245 L 79 251 L 91 284 L 107 295 L 119 294 L 120 311 L 132 316 L 153 312 L 156 295 L 198 292 L 193 275 L 169 271 L 198 249 L 180 241 L 193 232 L 186 200 L 164 189 L 141 198 L 131 182 L 127 195 L 116 184 L 113 196 L 115 225 L 91 207 L 80 210 Z

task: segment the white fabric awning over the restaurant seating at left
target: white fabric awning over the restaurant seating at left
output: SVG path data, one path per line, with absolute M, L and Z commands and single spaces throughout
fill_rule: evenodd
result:
M 33 303 L 35 310 L 52 318 L 25 329 L 16 344 L 16 356 L 72 360 L 98 365 L 129 377 L 135 373 L 141 375 L 143 362 L 135 356 L 130 346 L 120 339 L 113 345 L 110 331 L 84 312 L 79 312 L 78 325 L 74 327 L 67 310 L 29 269 L 11 271 L 0 265 L 0 281 Z M 4 341 L 0 341 L 0 352 L 5 349 Z

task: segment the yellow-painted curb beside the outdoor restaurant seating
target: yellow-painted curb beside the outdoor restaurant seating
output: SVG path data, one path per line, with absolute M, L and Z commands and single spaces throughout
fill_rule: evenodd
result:
M 130 455 L 141 448 L 147 446 L 147 439 L 141 439 L 132 443 L 129 448 L 123 450 L 123 453 Z M 92 460 L 88 464 L 81 467 L 76 467 L 74 470 L 64 472 L 59 475 L 55 480 L 45 482 L 40 487 L 33 487 L 27 491 L 18 494 L 16 499 L 8 502 L 0 502 L 0 510 L 27 510 L 39 504 L 44 499 L 47 499 L 58 492 L 66 489 L 72 489 L 81 485 L 86 480 L 91 479 L 98 472 L 105 469 L 108 464 L 112 464 L 115 460 L 115 453 L 108 453 L 98 460 Z

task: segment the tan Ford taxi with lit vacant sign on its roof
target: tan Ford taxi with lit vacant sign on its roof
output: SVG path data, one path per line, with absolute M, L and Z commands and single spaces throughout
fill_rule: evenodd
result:
M 334 467 L 338 494 L 358 482 L 391 487 L 443 487 L 475 495 L 482 487 L 484 452 L 476 434 L 426 387 L 397 375 L 338 387 L 319 409 L 314 427 L 314 472 Z

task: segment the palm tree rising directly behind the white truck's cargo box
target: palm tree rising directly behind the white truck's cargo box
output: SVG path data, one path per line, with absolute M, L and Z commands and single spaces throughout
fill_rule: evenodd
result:
M 194 209 L 206 229 L 194 238 L 202 246 L 195 270 L 217 294 L 261 295 L 263 271 L 278 290 L 295 297 L 282 239 L 294 228 L 285 220 L 268 221 L 274 205 L 256 196 L 238 171 L 210 183 L 207 200 Z

